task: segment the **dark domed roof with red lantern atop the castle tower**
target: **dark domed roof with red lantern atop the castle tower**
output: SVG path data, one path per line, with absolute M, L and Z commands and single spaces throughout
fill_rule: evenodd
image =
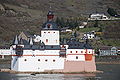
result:
M 59 30 L 57 24 L 53 22 L 54 14 L 49 11 L 47 14 L 47 22 L 43 24 L 42 29 L 44 30 Z

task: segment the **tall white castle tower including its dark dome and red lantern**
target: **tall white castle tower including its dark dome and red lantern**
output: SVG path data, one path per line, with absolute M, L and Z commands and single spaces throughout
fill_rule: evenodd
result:
M 56 23 L 53 22 L 53 18 L 53 12 L 49 11 L 47 22 L 42 26 L 41 37 L 45 45 L 59 45 L 59 28 Z

